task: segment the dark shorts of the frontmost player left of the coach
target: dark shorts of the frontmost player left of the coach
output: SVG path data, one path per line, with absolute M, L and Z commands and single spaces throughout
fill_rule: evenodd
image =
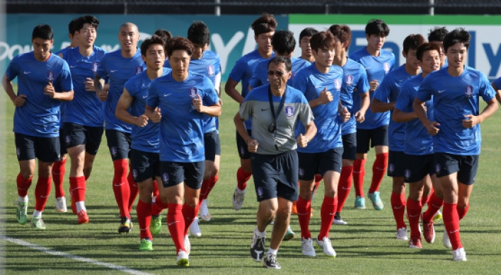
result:
M 160 171 L 164 188 L 179 185 L 185 182 L 191 189 L 200 189 L 204 179 L 205 161 L 195 163 L 177 163 L 161 161 Z

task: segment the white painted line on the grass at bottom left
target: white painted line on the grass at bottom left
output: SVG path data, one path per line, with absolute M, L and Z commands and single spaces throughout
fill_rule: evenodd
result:
M 6 240 L 8 242 L 13 242 L 13 243 L 15 243 L 17 245 L 22 245 L 22 246 L 25 246 L 25 247 L 30 247 L 33 250 L 38 250 L 40 252 L 44 252 L 44 253 L 47 253 L 47 254 L 52 254 L 54 256 L 65 257 L 65 258 L 68 258 L 68 259 L 74 259 L 74 260 L 80 261 L 80 262 L 88 262 L 89 264 L 96 264 L 96 265 L 101 266 L 101 267 L 108 267 L 109 269 L 115 269 L 115 270 L 123 271 L 123 272 L 129 273 L 129 274 L 151 275 L 151 274 L 146 273 L 146 272 L 142 272 L 142 271 L 138 271 L 138 270 L 134 270 L 134 269 L 129 269 L 127 267 L 122 267 L 122 266 L 119 266 L 119 265 L 116 265 L 116 264 L 110 264 L 110 263 L 107 263 L 107 262 L 99 262 L 99 261 L 97 261 L 95 259 L 84 258 L 84 257 L 80 257 L 80 256 L 76 256 L 76 255 L 72 255 L 72 254 L 68 254 L 68 253 L 56 251 L 56 250 L 50 250 L 47 247 L 42 247 L 40 245 L 34 245 L 33 243 L 25 242 L 24 240 L 19 240 L 19 239 L 15 239 L 15 238 L 8 238 L 8 237 L 3 236 L 3 235 L 0 235 L 0 240 Z

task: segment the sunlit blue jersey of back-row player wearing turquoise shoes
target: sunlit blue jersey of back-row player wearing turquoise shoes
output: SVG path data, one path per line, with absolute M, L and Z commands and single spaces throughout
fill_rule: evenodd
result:
M 392 52 L 388 52 L 381 49 L 378 57 L 373 57 L 367 52 L 366 47 L 359 49 L 350 55 L 350 58 L 355 60 L 364 66 L 365 71 L 367 71 L 367 81 L 371 82 L 377 80 L 379 84 L 383 82 L 384 77 L 388 74 L 395 64 L 395 55 Z M 374 92 L 369 92 L 369 96 L 374 98 Z M 371 112 L 371 108 L 365 113 L 365 120 L 362 123 L 357 123 L 357 128 L 359 129 L 376 129 L 383 125 L 388 125 L 390 122 L 389 112 Z

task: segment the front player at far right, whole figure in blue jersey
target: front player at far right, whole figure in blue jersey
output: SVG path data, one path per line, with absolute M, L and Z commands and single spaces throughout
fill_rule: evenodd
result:
M 435 171 L 444 192 L 444 226 L 454 261 L 466 261 L 459 220 L 468 211 L 478 168 L 479 123 L 497 110 L 496 93 L 487 77 L 464 65 L 470 39 L 471 35 L 463 28 L 445 36 L 444 49 L 449 65 L 425 78 L 413 104 L 417 117 L 434 135 Z M 432 96 L 433 122 L 427 119 L 422 106 Z M 481 112 L 480 97 L 487 103 Z M 444 238 L 444 244 L 446 240 Z

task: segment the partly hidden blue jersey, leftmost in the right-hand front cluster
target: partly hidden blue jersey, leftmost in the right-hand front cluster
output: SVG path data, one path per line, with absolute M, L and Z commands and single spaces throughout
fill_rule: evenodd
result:
M 399 66 L 397 69 L 390 71 L 390 73 L 384 77 L 384 81 L 374 92 L 374 98 L 381 101 L 381 103 L 391 103 L 395 102 L 398 98 L 398 93 L 400 93 L 400 88 L 402 84 L 411 78 L 410 74 L 405 71 L 405 64 Z M 393 115 L 393 110 L 387 111 L 390 116 Z M 405 139 L 405 123 L 394 122 L 390 119 L 390 125 L 388 126 L 388 141 L 391 151 L 403 152 Z

